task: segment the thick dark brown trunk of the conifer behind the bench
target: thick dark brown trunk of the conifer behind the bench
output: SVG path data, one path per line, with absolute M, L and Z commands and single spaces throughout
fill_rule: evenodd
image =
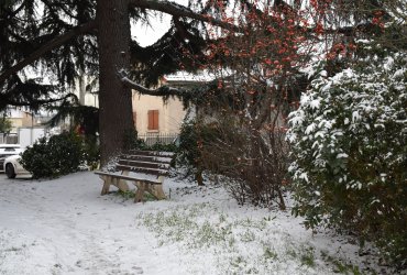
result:
M 118 76 L 118 70 L 130 68 L 129 0 L 98 0 L 96 12 L 100 66 L 100 162 L 105 165 L 124 148 L 124 136 L 134 130 L 131 90 Z

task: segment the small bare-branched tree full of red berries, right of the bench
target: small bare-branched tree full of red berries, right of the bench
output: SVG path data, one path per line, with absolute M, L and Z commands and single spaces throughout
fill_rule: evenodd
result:
M 217 3 L 222 20 L 239 30 L 208 30 L 216 40 L 202 67 L 217 84 L 199 102 L 198 116 L 210 117 L 218 139 L 202 142 L 204 167 L 228 176 L 240 202 L 285 209 L 285 116 L 306 85 L 300 46 L 314 43 L 301 24 L 305 14 L 282 1 L 245 1 L 232 11 Z

